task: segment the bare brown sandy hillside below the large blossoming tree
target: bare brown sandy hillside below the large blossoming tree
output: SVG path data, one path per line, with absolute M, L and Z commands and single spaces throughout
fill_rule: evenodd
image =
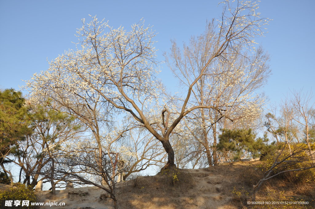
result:
M 118 204 L 121 209 L 226 209 L 230 204 L 231 190 L 239 187 L 238 173 L 255 162 L 226 163 L 217 167 L 186 170 L 194 177 L 194 184 L 169 186 L 160 181 L 159 175 L 140 177 L 125 181 L 118 187 Z M 52 206 L 54 209 L 100 209 L 113 208 L 110 198 L 100 199 L 105 193 L 97 187 L 83 187 L 57 190 L 51 197 L 44 191 L 41 201 L 65 202 L 66 206 Z M 104 196 L 104 195 L 103 195 Z M 41 207 L 52 208 L 49 206 Z

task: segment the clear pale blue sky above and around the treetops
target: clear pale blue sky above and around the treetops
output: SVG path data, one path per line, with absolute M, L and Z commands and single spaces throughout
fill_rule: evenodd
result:
M 46 70 L 52 60 L 69 48 L 81 19 L 89 14 L 109 20 L 109 25 L 129 26 L 142 17 L 158 32 L 158 60 L 168 52 L 170 40 L 187 42 L 199 35 L 206 20 L 222 12 L 218 1 L 4 1 L 0 0 L 0 89 L 23 85 L 33 73 Z M 313 0 L 262 0 L 262 17 L 273 19 L 269 33 L 257 41 L 271 55 L 272 75 L 264 87 L 270 101 L 279 101 L 289 89 L 313 88 L 315 79 L 315 24 Z M 164 84 L 175 90 L 176 82 L 162 65 Z

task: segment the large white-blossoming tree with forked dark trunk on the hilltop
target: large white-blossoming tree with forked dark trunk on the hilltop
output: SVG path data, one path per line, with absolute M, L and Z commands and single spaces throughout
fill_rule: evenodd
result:
M 249 50 L 255 51 L 254 38 L 263 35 L 263 27 L 268 23 L 268 19 L 256 12 L 256 2 L 224 1 L 222 4 L 224 9 L 211 37 L 213 45 L 209 56 L 189 82 L 186 94 L 177 99 L 175 107 L 163 100 L 166 98 L 161 91 L 163 86 L 156 79 L 158 70 L 153 46 L 156 34 L 151 27 L 145 27 L 143 21 L 132 25 L 127 32 L 123 27 L 113 29 L 108 22 L 96 17 L 89 23 L 83 19 L 83 26 L 77 31 L 81 44 L 76 50 L 57 57 L 48 71 L 35 74 L 27 86 L 37 98 L 48 94 L 56 101 L 67 103 L 71 102 L 71 97 L 79 95 L 83 100 L 92 98 L 106 105 L 106 114 L 110 116 L 128 114 L 135 124 L 162 143 L 168 154 L 165 167 L 175 166 L 170 137 L 185 116 L 200 109 L 211 109 L 234 120 L 225 113 L 227 104 L 201 105 L 193 101 L 193 88 L 204 77 L 225 73 L 209 74 L 207 69 L 212 63 L 230 59 L 233 54 L 246 56 Z M 77 103 L 78 107 L 80 105 Z

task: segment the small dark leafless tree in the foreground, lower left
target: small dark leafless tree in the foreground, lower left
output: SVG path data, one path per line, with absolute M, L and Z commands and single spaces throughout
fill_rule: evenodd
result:
M 115 165 L 118 163 L 117 153 L 104 153 L 100 165 L 95 164 L 98 157 L 97 149 L 83 148 L 75 155 L 63 155 L 55 161 L 54 172 L 68 182 L 89 184 L 99 187 L 110 194 L 114 201 L 114 208 L 118 208 Z M 96 157 L 95 157 L 96 156 Z M 98 160 L 100 162 L 100 160 Z M 106 184 L 104 184 L 104 181 Z

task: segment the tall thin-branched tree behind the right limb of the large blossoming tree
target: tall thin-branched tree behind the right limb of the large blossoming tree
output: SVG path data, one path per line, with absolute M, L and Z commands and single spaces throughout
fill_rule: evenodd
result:
M 192 37 L 188 46 L 184 44 L 182 52 L 176 42 L 173 42 L 172 52 L 168 56 L 170 59 L 166 59 L 181 85 L 189 87 L 200 75 L 202 67 L 211 56 L 209 51 L 215 44 L 213 36 L 215 25 L 211 22 L 202 35 Z M 269 65 L 266 64 L 268 59 L 261 47 L 255 54 L 247 55 L 246 58 L 239 54 L 225 55 L 222 60 L 207 66 L 204 74 L 212 76 L 203 76 L 198 80 L 192 88 L 190 103 L 224 106 L 226 116 L 234 118 L 234 121 L 246 120 L 248 125 L 251 125 L 259 116 L 265 99 L 264 95 L 254 92 L 264 84 L 270 74 Z M 220 122 L 224 122 L 226 117 L 216 110 L 201 108 L 200 112 L 190 114 L 186 119 L 186 125 L 191 130 L 190 136 L 203 146 L 209 165 L 217 164 L 216 136 Z M 202 131 L 202 137 L 196 130 L 198 128 Z M 195 133 L 198 133 L 198 136 L 195 136 Z

